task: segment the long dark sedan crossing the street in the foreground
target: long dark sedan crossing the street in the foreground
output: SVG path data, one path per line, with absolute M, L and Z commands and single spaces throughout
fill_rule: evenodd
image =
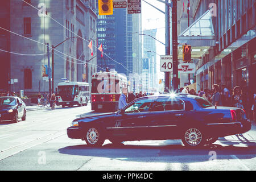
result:
M 185 146 L 201 146 L 250 129 L 244 110 L 214 107 L 202 97 L 184 94 L 141 97 L 115 113 L 77 118 L 67 134 L 89 146 L 101 146 L 105 139 L 181 139 Z

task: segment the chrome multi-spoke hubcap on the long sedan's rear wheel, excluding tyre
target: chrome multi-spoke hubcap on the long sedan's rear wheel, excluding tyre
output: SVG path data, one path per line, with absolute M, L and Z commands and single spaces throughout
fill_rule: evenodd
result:
M 196 146 L 198 145 L 202 140 L 202 134 L 197 129 L 188 129 L 185 133 L 185 141 L 191 145 Z

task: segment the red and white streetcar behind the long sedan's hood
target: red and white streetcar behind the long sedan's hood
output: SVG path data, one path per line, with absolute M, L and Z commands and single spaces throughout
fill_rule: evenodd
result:
M 117 72 L 99 72 L 92 75 L 91 101 L 94 111 L 117 111 L 122 88 L 127 78 Z

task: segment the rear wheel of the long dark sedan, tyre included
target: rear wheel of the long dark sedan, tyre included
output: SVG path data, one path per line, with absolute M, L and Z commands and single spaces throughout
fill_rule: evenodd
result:
M 182 142 L 187 147 L 197 147 L 204 144 L 204 134 L 198 127 L 189 127 L 183 133 Z

